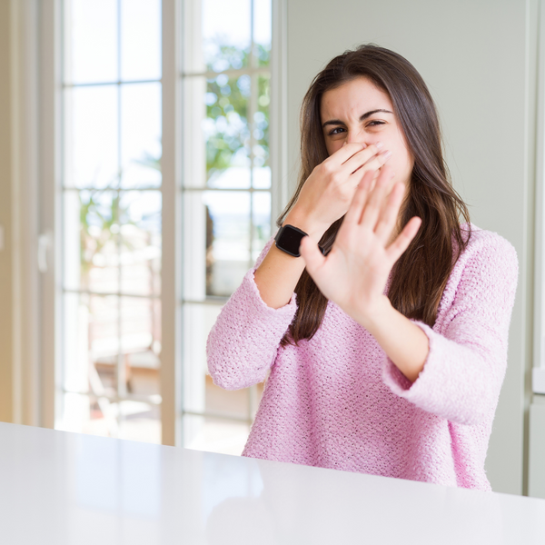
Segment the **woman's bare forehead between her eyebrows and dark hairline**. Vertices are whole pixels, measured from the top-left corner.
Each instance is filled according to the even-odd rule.
[[[393,112],[389,94],[379,89],[371,80],[358,77],[322,95],[320,116],[323,123],[328,119],[337,119],[351,114],[359,117],[366,112],[378,109]]]

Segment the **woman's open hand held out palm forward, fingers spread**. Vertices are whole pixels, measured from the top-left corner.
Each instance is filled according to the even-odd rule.
[[[380,312],[388,275],[418,232],[421,219],[413,217],[388,244],[398,220],[404,186],[394,183],[388,166],[372,187],[374,172],[366,173],[344,216],[332,250],[323,256],[306,236],[301,254],[320,291],[364,327]]]

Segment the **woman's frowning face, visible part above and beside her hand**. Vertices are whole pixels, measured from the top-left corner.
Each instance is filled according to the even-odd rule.
[[[390,150],[388,163],[395,176],[394,182],[409,183],[412,158],[390,96],[375,84],[358,77],[340,87],[326,91],[320,105],[323,138],[328,154],[334,154],[342,144],[384,144]]]

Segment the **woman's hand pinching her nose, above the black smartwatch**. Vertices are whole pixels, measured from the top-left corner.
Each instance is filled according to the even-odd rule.
[[[378,175],[390,156],[380,142],[368,146],[344,144],[314,168],[284,224],[299,227],[319,240],[332,223],[347,213],[365,173],[376,171]]]

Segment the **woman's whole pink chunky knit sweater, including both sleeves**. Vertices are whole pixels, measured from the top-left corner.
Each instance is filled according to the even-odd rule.
[[[274,310],[260,297],[255,268],[249,271],[207,342],[210,373],[224,389],[246,388],[270,372],[243,456],[490,490],[484,460],[518,262],[500,235],[471,228],[433,328],[414,321],[430,352],[412,384],[333,302],[310,341],[281,347],[295,294]]]

